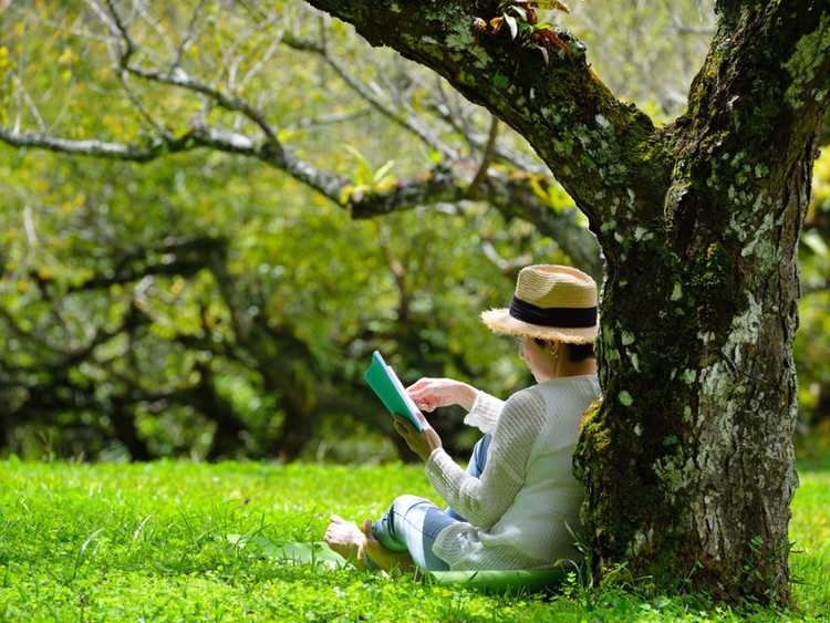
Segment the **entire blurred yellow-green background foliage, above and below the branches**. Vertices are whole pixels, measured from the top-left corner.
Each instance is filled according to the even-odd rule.
[[[479,167],[486,111],[301,2],[116,4],[138,44],[132,62],[256,103],[297,157],[351,180],[350,195],[445,156],[283,38],[322,41],[370,93],[426,120],[457,168]],[[561,21],[609,85],[658,122],[679,114],[713,3],[573,4]],[[136,145],[194,123],[259,132],[191,91],[124,76],[115,30],[98,2],[0,12],[0,125]],[[509,128],[499,145],[539,175]],[[491,172],[517,173],[501,162]],[[827,153],[816,172],[797,344],[805,425],[830,419]],[[554,183],[537,195],[575,209]],[[371,352],[404,383],[452,376],[506,397],[531,377],[478,314],[509,301],[511,259],[571,262],[556,236],[484,201],[355,220],[267,163],[209,149],[138,165],[0,146],[0,453],[28,457],[407,456],[362,382]],[[476,433],[447,412],[434,423],[461,451]]]

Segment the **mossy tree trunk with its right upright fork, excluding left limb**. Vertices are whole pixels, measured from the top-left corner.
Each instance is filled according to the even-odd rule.
[[[788,102],[782,60],[802,43],[787,24],[759,10],[722,27],[664,133],[677,159],[654,226],[637,215],[606,241],[606,399],[575,457],[600,574],[625,562],[658,584],[789,599],[797,246],[821,107]],[[776,32],[781,55],[755,45]]]

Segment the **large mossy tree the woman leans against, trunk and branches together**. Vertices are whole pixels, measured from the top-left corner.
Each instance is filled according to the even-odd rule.
[[[587,215],[605,257],[604,399],[577,457],[595,571],[624,562],[661,585],[787,601],[796,250],[828,102],[830,6],[716,2],[717,27],[688,108],[656,127],[601,82],[570,32],[537,22],[527,2],[310,3],[491,111]],[[248,154],[353,215],[466,196],[467,186],[459,194],[456,176],[440,168],[426,180],[360,188],[298,159],[245,101],[175,66],[131,64],[135,44],[110,8],[123,75],[196,91],[239,112],[261,139],[205,125],[179,135],[157,127],[160,139],[143,145],[9,131],[0,137],[136,160],[195,146]]]

